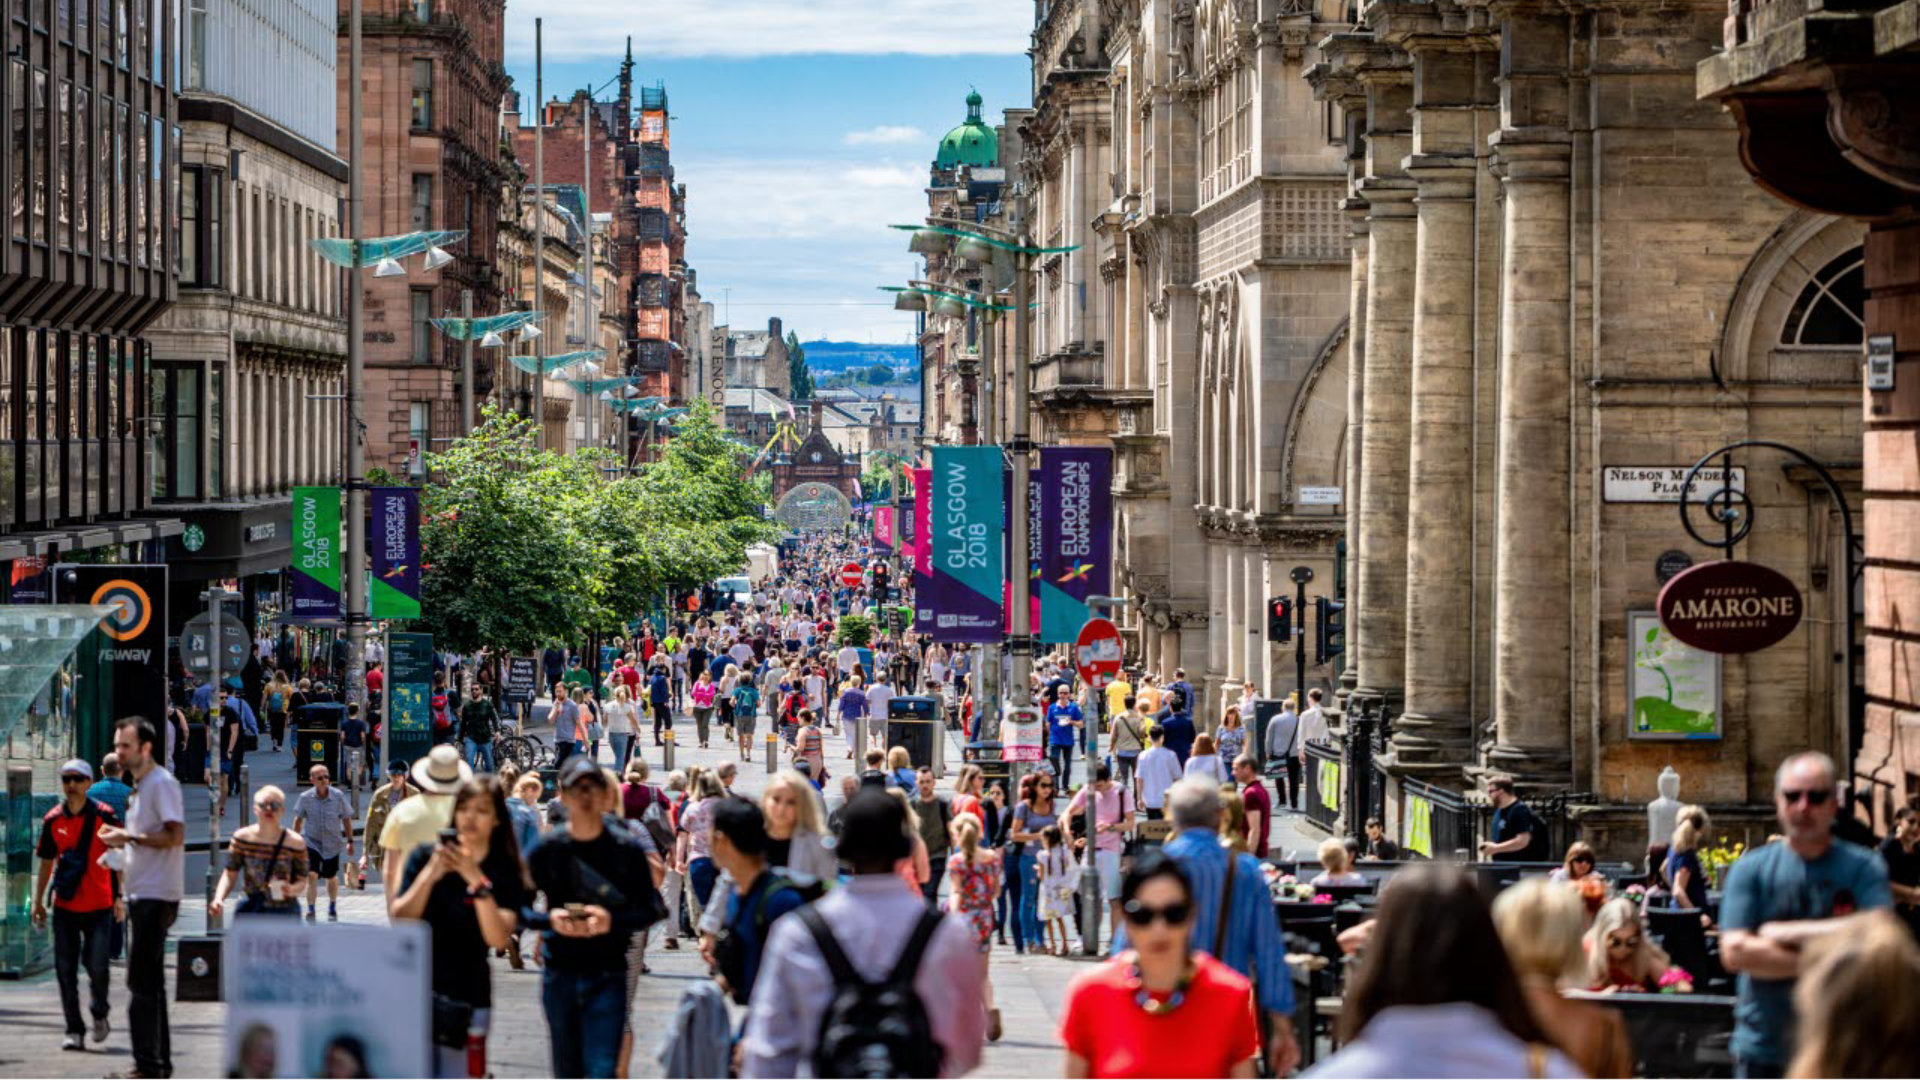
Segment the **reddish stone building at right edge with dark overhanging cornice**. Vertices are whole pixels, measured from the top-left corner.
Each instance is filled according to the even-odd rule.
[[[1920,4],[1736,0],[1720,33],[1724,52],[1701,60],[1697,90],[1740,125],[1740,160],[1759,186],[1801,211],[1866,223],[1857,258],[1841,263],[1870,342],[1866,678],[1834,749],[1851,763],[1857,807],[1885,830],[1920,798],[1920,638],[1908,617],[1920,609]]]

